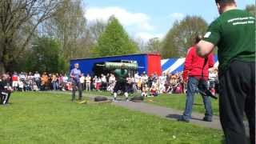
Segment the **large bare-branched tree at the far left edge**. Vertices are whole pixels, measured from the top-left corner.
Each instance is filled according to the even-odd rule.
[[[59,3],[60,0],[0,1],[0,73],[12,67],[38,25],[52,17]]]

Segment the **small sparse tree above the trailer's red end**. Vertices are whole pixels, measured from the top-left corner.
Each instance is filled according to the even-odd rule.
[[[151,38],[146,44],[146,50],[150,53],[159,53],[161,50],[161,42],[159,38]]]

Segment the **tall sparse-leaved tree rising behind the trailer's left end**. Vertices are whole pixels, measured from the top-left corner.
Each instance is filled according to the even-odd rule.
[[[67,61],[70,58],[90,56],[93,38],[86,30],[82,0],[63,0],[58,7],[50,26],[56,38],[61,42],[62,53]]]

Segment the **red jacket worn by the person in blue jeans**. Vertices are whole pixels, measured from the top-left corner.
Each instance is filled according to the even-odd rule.
[[[184,81],[187,81],[187,78],[190,76],[194,76],[200,78],[202,76],[202,67],[204,65],[205,58],[201,58],[196,53],[195,46],[190,47],[187,52],[186,60],[184,64],[184,70],[182,74],[182,78]],[[214,66],[214,54],[208,55],[208,61],[206,62],[206,66],[203,69],[203,77],[208,80],[208,70],[209,68]]]

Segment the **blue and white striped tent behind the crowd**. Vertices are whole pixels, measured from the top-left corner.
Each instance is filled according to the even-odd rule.
[[[184,68],[185,58],[169,58],[161,60],[162,73],[177,73]],[[218,56],[214,56],[214,67],[218,67]]]

